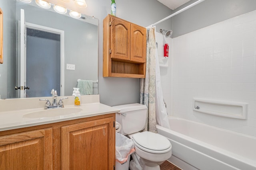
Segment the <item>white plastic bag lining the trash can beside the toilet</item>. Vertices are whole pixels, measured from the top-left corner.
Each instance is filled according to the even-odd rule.
[[[126,162],[128,156],[135,151],[132,139],[116,133],[116,161],[121,164]]]

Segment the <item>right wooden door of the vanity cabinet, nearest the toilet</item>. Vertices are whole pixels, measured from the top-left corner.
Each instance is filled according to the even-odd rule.
[[[62,170],[113,170],[114,118],[61,128]]]

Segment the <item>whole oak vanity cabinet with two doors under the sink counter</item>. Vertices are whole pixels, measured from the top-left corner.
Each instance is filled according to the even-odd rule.
[[[113,170],[115,113],[0,132],[0,170]]]

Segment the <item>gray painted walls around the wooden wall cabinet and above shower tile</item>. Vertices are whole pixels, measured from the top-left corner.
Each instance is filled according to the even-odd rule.
[[[102,77],[102,20],[110,12],[110,2],[105,0],[86,1],[92,8],[89,15],[99,18],[99,94],[100,102],[110,106],[139,102],[140,80],[135,78],[103,78]],[[196,2],[196,0],[192,0]],[[192,3],[190,2],[190,4]],[[92,3],[92,4],[91,4]],[[136,4],[136,5],[134,5]],[[189,3],[188,3],[189,4]],[[116,0],[117,16],[144,27],[169,16],[173,12],[156,0]],[[214,23],[254,10],[255,0],[206,0],[189,10],[172,18],[173,36],[212,25]],[[96,10],[97,9],[97,10]],[[94,10],[94,11],[91,11]],[[166,22],[170,21],[165,21]],[[168,29],[167,25],[157,25],[158,29]]]

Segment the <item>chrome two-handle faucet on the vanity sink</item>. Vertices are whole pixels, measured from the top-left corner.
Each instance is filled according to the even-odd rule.
[[[66,98],[61,98],[60,101],[57,103],[57,90],[52,89],[52,104],[50,103],[50,101],[48,99],[39,99],[39,101],[46,101],[44,109],[55,109],[55,108],[62,108],[64,107],[63,105],[63,100],[64,99],[68,99],[68,97]]]

